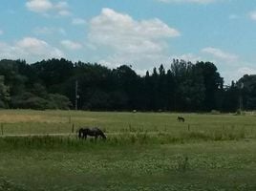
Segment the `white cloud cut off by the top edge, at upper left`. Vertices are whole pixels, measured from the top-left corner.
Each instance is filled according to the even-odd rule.
[[[56,13],[60,16],[70,15],[69,5],[65,1],[53,3],[51,0],[28,0],[26,7],[30,11],[42,13],[48,15],[50,13]]]

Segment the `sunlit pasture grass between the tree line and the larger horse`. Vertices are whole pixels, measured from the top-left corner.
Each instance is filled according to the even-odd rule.
[[[246,138],[256,138],[256,116],[182,114],[185,122],[178,122],[170,113],[108,113],[75,111],[0,111],[4,135],[59,134],[72,132],[81,126],[98,126],[107,133],[167,132],[180,136],[181,132],[217,134],[244,132]],[[1,134],[1,132],[0,132]]]

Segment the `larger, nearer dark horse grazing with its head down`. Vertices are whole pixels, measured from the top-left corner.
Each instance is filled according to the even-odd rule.
[[[104,140],[106,139],[106,136],[104,135],[104,133],[96,127],[93,127],[93,128],[86,127],[86,128],[80,128],[78,130],[78,138],[86,139],[87,136],[95,137],[95,138],[101,137]]]

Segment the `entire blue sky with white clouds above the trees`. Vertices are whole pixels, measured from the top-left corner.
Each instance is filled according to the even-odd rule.
[[[139,74],[212,61],[225,84],[256,74],[253,0],[1,0],[0,59],[65,57]]]

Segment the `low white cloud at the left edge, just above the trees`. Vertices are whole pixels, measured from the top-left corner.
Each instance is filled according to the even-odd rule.
[[[26,59],[29,62],[34,62],[39,59],[48,59],[52,57],[60,58],[63,56],[64,53],[57,48],[34,37],[24,37],[13,44],[0,42],[0,57],[2,58],[21,58]]]

